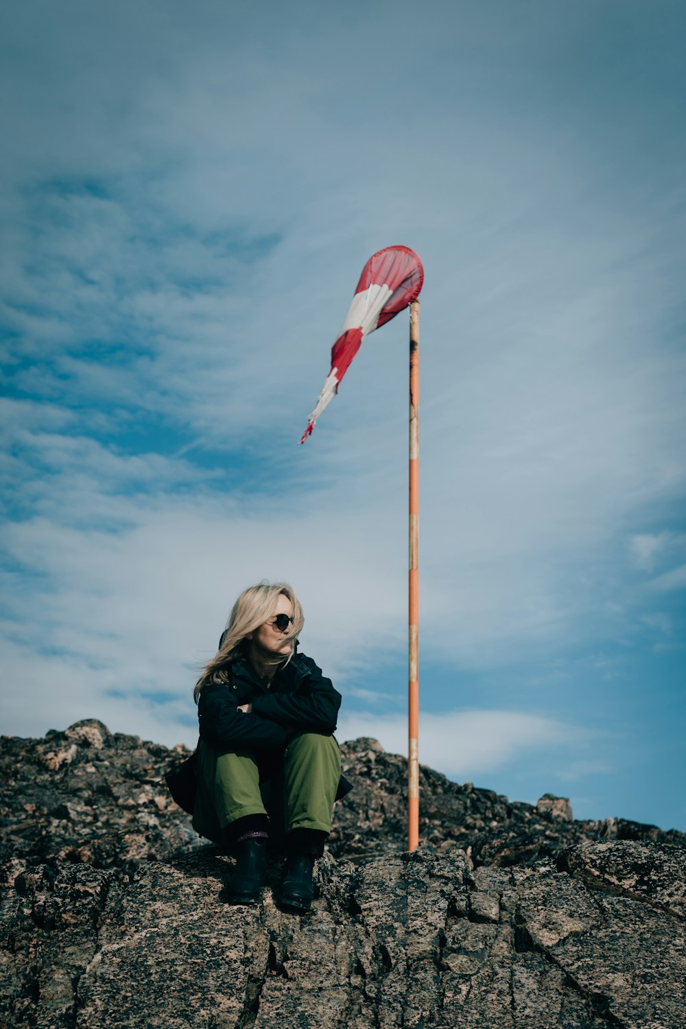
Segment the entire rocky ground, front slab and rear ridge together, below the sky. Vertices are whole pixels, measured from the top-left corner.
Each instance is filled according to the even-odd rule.
[[[312,914],[275,904],[278,857],[232,908],[158,788],[177,753],[94,721],[2,740],[0,1029],[683,1026],[683,835],[423,769],[402,853],[404,761],[358,740]]]

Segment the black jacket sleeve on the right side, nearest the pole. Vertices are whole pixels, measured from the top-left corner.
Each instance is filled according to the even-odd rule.
[[[333,688],[331,680],[322,675],[321,668],[312,658],[300,654],[300,660],[310,672],[301,691],[254,697],[253,714],[283,725],[291,733],[295,730],[329,736],[335,732],[340,694]]]

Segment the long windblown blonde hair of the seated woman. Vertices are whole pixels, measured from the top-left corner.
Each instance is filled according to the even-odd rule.
[[[205,665],[200,679],[193,689],[193,700],[197,703],[201,689],[208,682],[229,682],[228,666],[236,659],[245,653],[247,648],[247,636],[255,632],[260,626],[268,622],[275,613],[277,600],[280,596],[287,597],[293,605],[293,623],[284,633],[284,640],[295,641],[298,633],[302,631],[304,615],[300,602],[293,592],[293,588],[288,582],[267,582],[265,579],[257,586],[248,587],[244,590],[231,608],[226,628],[219,640],[219,649],[214,658]],[[287,665],[293,655],[294,646],[291,653],[285,660]]]

